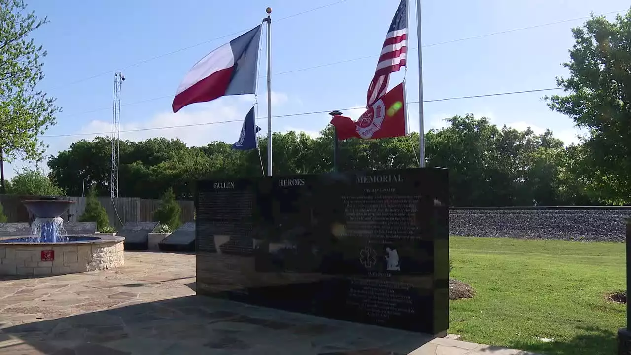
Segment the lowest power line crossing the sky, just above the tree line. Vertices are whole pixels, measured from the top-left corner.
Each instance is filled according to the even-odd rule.
[[[564,88],[545,88],[545,89],[534,89],[534,90],[521,90],[521,91],[512,91],[512,92],[499,92],[499,93],[486,93],[483,95],[471,95],[471,96],[457,96],[457,97],[446,97],[444,99],[434,99],[434,100],[425,100],[423,102],[440,102],[440,101],[449,101],[449,100],[463,100],[463,99],[475,99],[478,97],[492,97],[492,96],[502,96],[502,95],[514,95],[517,93],[532,93],[532,92],[544,92],[551,90],[562,90]],[[409,101],[408,104],[418,104],[418,101]],[[353,111],[358,109],[365,109],[365,107],[349,107],[346,109],[340,110],[324,110],[324,111],[310,111],[310,112],[300,112],[295,114],[283,114],[272,116],[273,118],[283,118],[283,117],[295,117],[295,116],[306,116],[310,114],[324,114],[329,113],[331,111]],[[256,119],[267,119],[267,117],[257,117]],[[222,123],[233,123],[233,122],[243,122],[243,119],[230,119],[227,121],[214,121],[214,122],[206,122],[206,123],[192,123],[192,124],[178,124],[175,126],[163,126],[163,127],[150,127],[150,128],[136,128],[136,129],[125,129],[121,132],[139,132],[139,131],[155,131],[157,129],[171,129],[171,128],[187,128],[187,127],[197,127],[197,126],[208,126],[211,124],[222,124]],[[69,137],[69,136],[98,136],[105,135],[111,132],[93,132],[93,133],[70,133],[66,135],[43,135],[44,137]]]

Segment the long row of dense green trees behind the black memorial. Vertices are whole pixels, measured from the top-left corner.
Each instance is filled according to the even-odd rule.
[[[449,169],[451,204],[456,206],[601,205],[628,202],[611,198],[593,183],[582,156],[586,146],[564,147],[551,131],[536,134],[490,124],[471,114],[446,119],[445,128],[425,136],[427,165]],[[333,129],[312,138],[290,131],[273,133],[274,174],[316,174],[333,170]],[[191,199],[198,179],[261,176],[266,166],[266,138],[256,150],[242,152],[213,141],[187,147],[180,140],[151,138],[121,141],[121,196],[159,198],[172,188],[179,199]],[[68,195],[84,186],[109,193],[111,141],[80,140],[50,157],[50,179]],[[418,167],[418,134],[381,140],[341,141],[341,171]]]

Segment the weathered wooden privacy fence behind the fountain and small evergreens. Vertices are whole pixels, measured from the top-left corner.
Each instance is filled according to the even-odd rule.
[[[21,201],[37,200],[40,196],[0,195],[0,203],[3,205],[4,215],[8,222],[28,222],[27,208]],[[62,196],[63,200],[75,201],[64,220],[78,222],[85,210],[86,197]],[[110,224],[122,227],[126,222],[153,222],[153,212],[160,206],[160,200],[149,200],[138,197],[98,197],[98,202],[105,207]],[[182,223],[191,222],[195,214],[195,206],[192,201],[177,201],[182,208],[180,220]]]

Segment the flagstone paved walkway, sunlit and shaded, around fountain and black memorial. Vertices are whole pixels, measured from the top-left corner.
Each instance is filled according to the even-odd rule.
[[[196,296],[195,256],[0,279],[0,354],[533,355]]]

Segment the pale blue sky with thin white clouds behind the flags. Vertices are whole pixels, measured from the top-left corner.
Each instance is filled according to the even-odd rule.
[[[93,138],[91,133],[111,131],[115,70],[126,76],[122,131],[242,119],[254,102],[252,95],[191,105],[178,114],[170,111],[172,95],[192,64],[236,36],[226,35],[255,27],[264,18],[266,6],[273,9],[273,116],[362,106],[399,0],[27,2],[30,9],[50,20],[34,37],[48,51],[46,78],[40,88],[57,97],[63,108],[57,125],[43,137],[50,146],[47,153],[56,154],[73,141]],[[411,0],[410,48],[417,46],[415,3]],[[553,88],[555,76],[566,74],[560,63],[567,61],[573,44],[570,28],[584,22],[565,20],[627,8],[628,1],[623,0],[425,0],[425,100]],[[565,22],[556,23],[560,21]],[[546,23],[556,24],[459,40]],[[266,33],[263,35],[265,38]],[[440,44],[452,40],[459,41]],[[263,42],[261,75],[265,73],[265,48]],[[359,57],[365,58],[350,60]],[[324,65],[340,61],[345,63]],[[393,75],[391,83],[398,83],[403,75],[403,71]],[[408,100],[418,100],[415,49],[408,54],[406,84]],[[261,117],[266,113],[265,78],[259,81],[259,92]],[[498,125],[531,126],[535,131],[550,128],[559,138],[575,141],[572,121],[550,112],[542,99],[545,94],[429,102],[425,104],[425,129],[440,127],[445,117],[473,113]],[[345,111],[351,117],[361,113]],[[418,105],[408,105],[408,116],[411,129],[418,131]],[[273,119],[272,128],[315,135],[328,120],[326,114],[279,117]],[[121,132],[121,138],[167,136],[179,137],[189,145],[213,140],[233,143],[240,126],[237,122],[149,129]],[[266,131],[265,120],[259,126]],[[8,164],[8,178],[23,165]]]

